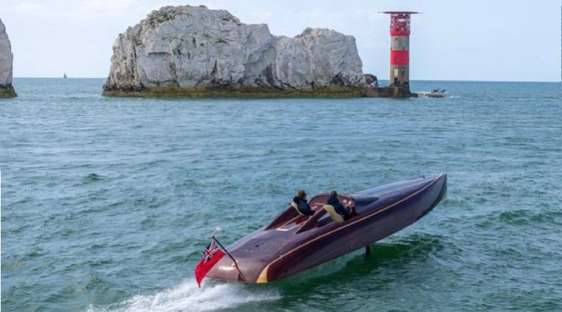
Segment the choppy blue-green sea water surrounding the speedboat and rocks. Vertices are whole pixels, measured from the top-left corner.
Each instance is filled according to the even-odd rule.
[[[447,98],[103,98],[15,79],[0,100],[5,311],[562,310],[559,84],[413,82]],[[192,271],[299,188],[448,174],[405,230],[287,280]]]

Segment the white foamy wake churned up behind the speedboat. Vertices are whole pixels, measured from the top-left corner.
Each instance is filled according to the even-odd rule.
[[[136,312],[136,311],[213,311],[219,308],[233,308],[256,301],[280,299],[272,290],[253,289],[234,283],[204,282],[197,287],[195,280],[186,280],[181,285],[157,292],[138,295],[120,304],[107,307],[89,306],[87,312]]]

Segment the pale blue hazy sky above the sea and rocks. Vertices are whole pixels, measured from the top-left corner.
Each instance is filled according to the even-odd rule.
[[[561,81],[562,0],[0,0],[14,77],[100,77],[117,35],[162,6],[203,4],[276,36],[306,27],[355,37],[363,72],[388,79],[389,17],[412,16],[410,79]]]

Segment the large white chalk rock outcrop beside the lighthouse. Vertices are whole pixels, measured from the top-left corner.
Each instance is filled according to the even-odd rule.
[[[104,95],[360,96],[355,39],[308,28],[294,38],[223,10],[166,6],[119,34]]]

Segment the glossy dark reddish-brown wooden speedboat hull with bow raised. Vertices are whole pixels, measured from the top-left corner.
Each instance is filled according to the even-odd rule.
[[[239,282],[287,278],[396,233],[430,212],[446,193],[447,176],[439,174],[341,196],[358,213],[341,223],[322,209],[327,194],[315,196],[313,216],[299,216],[289,207],[268,226],[227,247],[242,274],[224,256],[207,277]]]

